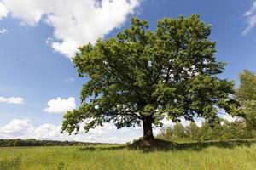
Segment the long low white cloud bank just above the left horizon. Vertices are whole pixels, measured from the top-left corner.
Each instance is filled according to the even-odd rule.
[[[102,143],[125,143],[142,136],[142,128],[117,129],[111,123],[104,123],[104,127],[91,129],[84,133],[82,128],[77,135],[61,133],[61,126],[53,124],[42,124],[34,127],[28,119],[15,119],[7,125],[0,127],[0,138],[2,139],[50,139],[69,140],[81,142],[102,142]],[[124,135],[125,134],[125,135]]]

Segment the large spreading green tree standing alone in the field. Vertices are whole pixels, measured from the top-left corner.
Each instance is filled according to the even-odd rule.
[[[154,139],[152,126],[165,117],[179,122],[204,117],[218,122],[218,109],[232,113],[233,82],[217,77],[224,69],[215,60],[211,26],[198,14],[159,20],[156,30],[133,18],[131,28],[106,41],[79,48],[73,58],[79,77],[90,77],[79,109],[68,111],[62,130],[86,132],[113,122],[118,128],[143,124],[143,139]]]

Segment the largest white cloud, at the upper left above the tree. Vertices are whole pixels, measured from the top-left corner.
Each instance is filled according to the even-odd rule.
[[[133,14],[141,0],[2,0],[9,13],[28,26],[52,26],[56,52],[72,57],[80,45],[94,43]]]

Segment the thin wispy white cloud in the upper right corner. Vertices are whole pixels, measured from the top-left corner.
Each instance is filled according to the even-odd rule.
[[[247,35],[256,26],[256,1],[253,2],[253,6],[248,10],[244,16],[246,17],[247,28],[242,31],[242,35]]]

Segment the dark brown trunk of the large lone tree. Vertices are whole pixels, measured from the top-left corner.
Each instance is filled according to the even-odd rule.
[[[152,129],[152,116],[143,117],[143,139],[144,140],[153,140],[153,129]]]

